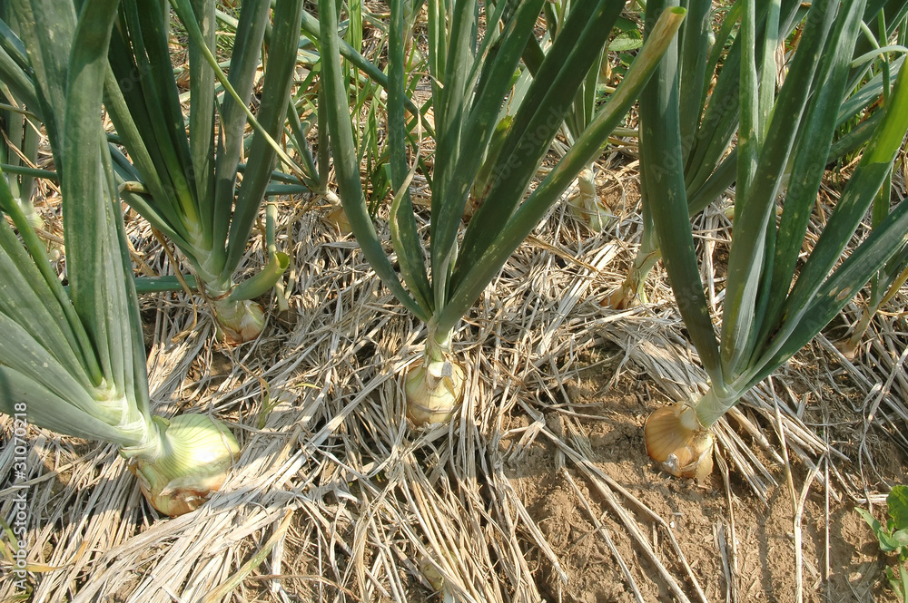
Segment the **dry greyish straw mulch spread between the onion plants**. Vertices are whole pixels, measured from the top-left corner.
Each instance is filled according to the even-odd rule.
[[[593,389],[640,408],[706,386],[658,269],[650,304],[622,312],[599,305],[623,279],[639,234],[634,174],[622,174],[603,183],[616,212],[609,232],[591,236],[554,209],[463,321],[455,347],[469,394],[449,426],[408,426],[402,375],[424,327],[381,287],[355,243],[307,210],[311,199],[281,202],[290,309],[271,304],[259,341],[225,348],[205,306],[183,294],[143,297],[156,411],[218,416],[232,425],[242,456],[202,509],[163,519],[114,447],[32,430],[33,600],[744,601],[795,600],[798,592],[822,600],[830,545],[804,549],[804,503],[826,501],[829,520],[830,505],[879,504],[892,485],[880,451],[898,467],[908,450],[904,320],[877,320],[854,362],[820,336],[749,394],[720,423],[718,469],[706,490],[646,462],[611,472],[619,464],[599,462],[605,449],[594,436],[627,419],[628,447],[605,452],[640,455],[645,414],[577,403],[572,388],[589,382],[590,357],[608,358]],[[724,214],[710,209],[699,220],[702,250],[720,258]],[[131,220],[130,233],[149,269],[172,271],[141,222]],[[261,248],[247,259],[250,270],[261,265]],[[705,266],[718,309],[721,266]],[[11,422],[0,424],[11,433]],[[11,459],[4,446],[0,484],[13,481]],[[533,459],[548,463],[545,472],[523,479]],[[553,480],[570,508],[553,509],[549,497],[540,511],[540,492]],[[719,509],[705,528],[715,542],[691,540],[677,513],[647,502],[658,488],[679,492],[679,501],[684,491],[711,491],[697,495]],[[779,492],[792,505],[778,550],[796,563],[767,595],[748,578],[744,543],[754,534],[742,505],[768,508]],[[0,491],[4,517],[12,493]],[[556,517],[573,522],[573,535],[559,536]],[[599,550],[586,567],[575,559],[581,543]],[[599,590],[581,583],[598,576],[595,564],[611,571],[597,578]],[[853,591],[880,595],[880,567],[863,567]],[[607,579],[614,583],[604,590]],[[11,577],[0,579],[0,597],[14,596]]]

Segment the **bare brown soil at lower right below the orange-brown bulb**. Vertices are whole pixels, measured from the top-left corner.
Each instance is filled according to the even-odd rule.
[[[727,485],[718,470],[700,483],[668,475],[646,455],[643,425],[648,413],[660,404],[650,396],[646,375],[639,380],[623,377],[609,389],[612,374],[611,367],[598,365],[585,373],[581,383],[568,384],[572,402],[582,405],[582,413],[587,415],[577,419],[577,424],[592,452],[589,461],[668,522],[708,600],[795,601],[795,505],[784,472],[779,469],[775,474],[780,485],[770,491],[768,505],[756,498],[734,468],[726,473]],[[506,427],[527,425],[526,415],[516,415]],[[889,465],[890,477],[898,481],[904,475],[903,455],[894,446],[887,452],[881,457]],[[546,600],[635,600],[617,556],[601,537],[602,530],[627,562],[644,600],[676,600],[652,570],[653,564],[627,537],[601,494],[560,464],[557,446],[542,439],[508,458],[506,464],[508,477],[567,575],[565,582],[546,556],[530,553]],[[807,471],[800,463],[792,464],[800,494]],[[578,493],[587,504],[592,503],[592,514]],[[873,533],[854,512],[854,501],[838,491],[834,496],[841,500],[828,497],[822,486],[814,486],[801,511],[804,600],[896,600],[881,580],[883,567],[891,559],[880,553]],[[878,514],[882,512],[877,509]],[[675,553],[665,530],[648,520],[646,513],[637,511],[635,515],[652,527],[646,536],[668,569],[684,576],[682,564],[672,560]],[[698,598],[689,583],[684,588],[688,598]]]

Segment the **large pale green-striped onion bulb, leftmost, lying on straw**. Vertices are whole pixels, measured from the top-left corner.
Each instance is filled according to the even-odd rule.
[[[195,511],[221,488],[240,444],[224,423],[204,414],[155,416],[153,424],[157,442],[123,449],[129,469],[158,511],[171,517]]]

